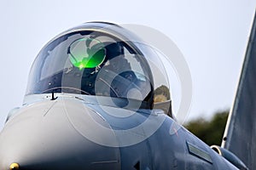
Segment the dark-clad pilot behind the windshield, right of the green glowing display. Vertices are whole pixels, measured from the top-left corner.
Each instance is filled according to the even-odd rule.
[[[129,87],[137,81],[136,74],[131,71],[131,64],[125,59],[122,44],[120,42],[106,43],[106,60],[102,64],[101,72],[107,72],[107,75],[98,77],[105,82],[100,90],[103,90],[103,95],[126,98]],[[99,92],[99,89],[97,91]]]

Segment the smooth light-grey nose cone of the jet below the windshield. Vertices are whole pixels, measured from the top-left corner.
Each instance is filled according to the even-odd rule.
[[[0,133],[0,169],[119,169],[117,147],[96,144],[81,133],[79,128],[85,129],[88,122],[84,121],[91,117],[108,127],[95,111],[77,101],[57,99],[20,109]],[[86,129],[84,133],[97,131]],[[95,134],[114,140],[111,135]]]

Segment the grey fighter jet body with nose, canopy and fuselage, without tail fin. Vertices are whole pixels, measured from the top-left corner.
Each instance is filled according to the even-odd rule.
[[[0,169],[247,169],[229,147],[211,148],[177,123],[162,66],[121,26],[64,31],[39,52],[24,103],[9,112]]]

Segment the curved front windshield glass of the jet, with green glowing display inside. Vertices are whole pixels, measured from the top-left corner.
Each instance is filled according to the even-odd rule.
[[[107,33],[77,31],[56,38],[32,65],[26,95],[70,93],[152,99],[146,59]]]

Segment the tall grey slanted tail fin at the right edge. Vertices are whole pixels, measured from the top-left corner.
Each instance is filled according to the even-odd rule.
[[[223,147],[232,151],[249,169],[256,169],[256,18],[242,66],[236,99],[230,111]]]

